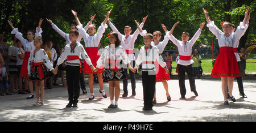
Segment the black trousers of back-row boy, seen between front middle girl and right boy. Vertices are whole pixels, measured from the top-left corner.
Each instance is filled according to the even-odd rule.
[[[131,66],[134,67],[135,61],[132,61],[131,63],[132,63]],[[123,71],[125,71],[125,74],[128,75],[127,68],[124,68]],[[135,74],[131,70],[129,70],[129,75],[131,78],[131,89],[133,89],[135,91],[135,88],[136,88]],[[123,80],[123,92],[125,92],[125,93],[128,92],[127,86],[128,86],[128,79]]]

